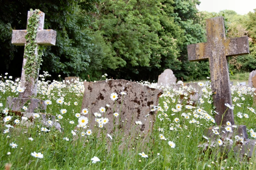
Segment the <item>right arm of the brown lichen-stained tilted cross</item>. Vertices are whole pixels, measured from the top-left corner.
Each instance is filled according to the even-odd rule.
[[[226,56],[249,54],[248,36],[225,39],[224,47]]]

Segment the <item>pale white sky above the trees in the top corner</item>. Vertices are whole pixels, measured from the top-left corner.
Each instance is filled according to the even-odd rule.
[[[200,0],[200,11],[219,12],[220,10],[234,10],[244,15],[256,8],[256,0]]]

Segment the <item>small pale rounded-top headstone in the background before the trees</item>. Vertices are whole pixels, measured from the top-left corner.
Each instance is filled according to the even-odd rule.
[[[158,76],[157,85],[170,86],[176,83],[177,78],[173,74],[172,70],[166,69],[162,74]]]

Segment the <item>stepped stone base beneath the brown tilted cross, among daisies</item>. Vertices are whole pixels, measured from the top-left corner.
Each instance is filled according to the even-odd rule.
[[[256,140],[248,139],[246,126],[245,125],[239,125],[237,128],[232,127],[232,132],[227,132],[225,130],[227,126],[221,126],[220,129],[217,131],[219,132],[218,135],[213,133],[213,129],[216,127],[211,127],[205,131],[206,137],[209,138],[207,143],[203,143],[199,145],[199,147],[203,147],[204,150],[207,150],[209,147],[218,147],[218,139],[224,139],[223,145],[219,146],[222,151],[226,152],[227,154],[231,151],[234,153],[239,154],[240,158],[243,158],[244,156],[252,157],[256,153],[255,146],[256,146]],[[229,126],[231,127],[231,126]],[[222,131],[225,131],[222,132]],[[244,143],[235,141],[235,136],[238,135],[239,137],[244,138]],[[227,141],[226,138],[232,139],[233,142]]]

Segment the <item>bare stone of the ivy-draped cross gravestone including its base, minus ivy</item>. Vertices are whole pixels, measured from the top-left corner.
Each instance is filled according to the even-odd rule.
[[[28,11],[27,16],[27,25],[29,18],[33,15],[35,11]],[[36,35],[36,49],[34,54],[36,54],[36,58],[38,57],[38,45],[55,45],[56,42],[56,31],[54,30],[44,30],[44,13],[39,11],[39,27],[37,30]],[[26,30],[13,30],[12,31],[12,40],[11,43],[14,45],[24,45],[26,46],[26,39],[25,36],[27,34]],[[7,107],[10,108],[12,111],[21,111],[22,107],[25,104],[28,104],[28,113],[33,113],[39,108],[41,110],[46,110],[46,104],[43,100],[36,99],[33,97],[37,96],[37,83],[38,83],[38,76],[39,76],[39,68],[38,70],[34,70],[37,78],[33,78],[31,75],[26,75],[25,73],[25,64],[27,62],[27,58],[23,58],[23,67],[22,67],[22,76],[21,76],[21,87],[24,89],[24,92],[19,93],[18,98],[7,98]],[[33,62],[32,65],[38,65],[37,62]],[[29,81],[26,81],[25,76],[29,76]]]

